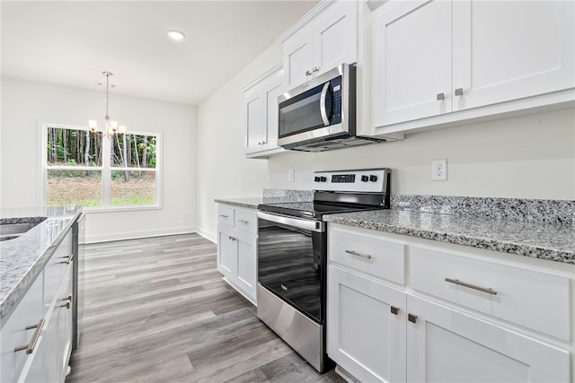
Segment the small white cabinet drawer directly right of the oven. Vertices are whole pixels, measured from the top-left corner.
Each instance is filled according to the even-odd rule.
[[[405,283],[405,248],[401,242],[339,229],[328,233],[330,262],[346,265],[394,283]]]

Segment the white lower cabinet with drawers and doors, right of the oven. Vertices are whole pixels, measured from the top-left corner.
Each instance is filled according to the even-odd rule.
[[[362,382],[574,381],[572,265],[461,248],[330,223],[332,360]]]

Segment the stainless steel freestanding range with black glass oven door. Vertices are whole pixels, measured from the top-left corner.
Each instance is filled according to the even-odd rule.
[[[318,171],[314,200],[264,204],[258,211],[258,318],[316,370],[325,353],[324,214],[389,208],[389,169]]]

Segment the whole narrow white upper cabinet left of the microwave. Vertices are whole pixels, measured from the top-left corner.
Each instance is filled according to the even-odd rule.
[[[281,64],[243,89],[245,100],[245,152],[248,157],[267,157],[284,152],[278,146],[278,96],[283,91]]]

